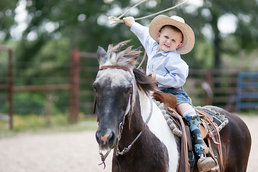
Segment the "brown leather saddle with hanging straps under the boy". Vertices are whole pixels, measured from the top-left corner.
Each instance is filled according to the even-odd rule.
[[[172,120],[172,123],[175,124],[174,126],[176,126],[182,132],[181,158],[180,158],[180,164],[179,164],[179,172],[188,172],[188,171],[192,172],[193,167],[195,165],[195,156],[193,155],[193,151],[192,151],[194,148],[192,145],[189,126],[186,125],[186,121],[184,117],[182,117],[175,109],[177,105],[176,96],[170,93],[155,92],[153,94],[153,97],[155,100],[159,101],[161,105],[163,105],[163,109],[167,111],[167,114]],[[197,109],[195,109],[195,111],[196,111],[196,114],[198,113],[200,117],[200,120],[199,120],[200,130],[201,130],[203,143],[205,145],[205,156],[212,157],[216,163],[215,167],[210,169],[210,171],[220,172],[217,157],[214,155],[212,145],[211,145],[211,142],[213,142],[215,145],[218,146],[220,165],[222,169],[223,168],[222,149],[220,144],[221,141],[220,141],[219,130],[217,128],[219,123],[217,121],[217,117],[215,116],[213,117],[211,113],[209,113],[208,111],[197,110]],[[204,138],[207,139],[208,146],[205,143]]]

